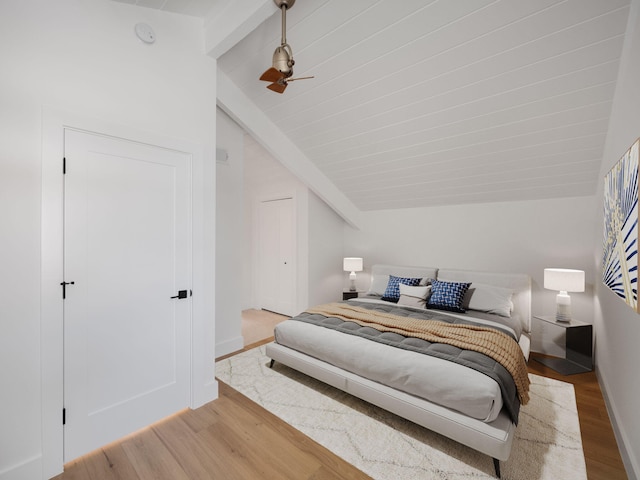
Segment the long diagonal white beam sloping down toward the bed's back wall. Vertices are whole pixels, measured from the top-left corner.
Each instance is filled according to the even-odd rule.
[[[358,228],[360,210],[220,69],[217,87],[218,106],[349,225]]]

